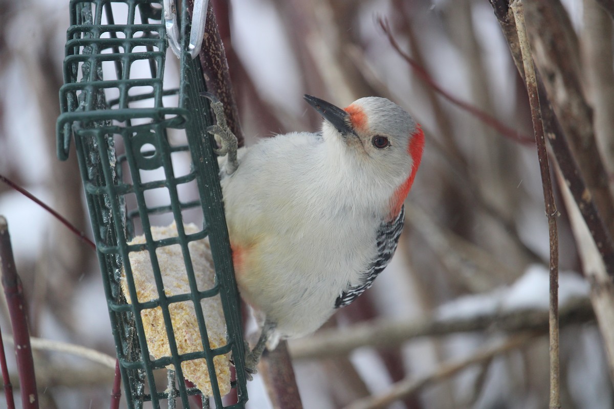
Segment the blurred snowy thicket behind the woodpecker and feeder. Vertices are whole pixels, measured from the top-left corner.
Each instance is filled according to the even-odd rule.
[[[612,20],[595,0],[565,0],[563,6],[581,90],[595,121],[602,121],[596,134],[610,167],[614,137],[600,129],[614,129],[614,116],[608,115],[614,106]],[[349,328],[373,319],[411,324],[486,317],[495,323],[497,314],[517,311],[518,327],[528,328],[524,318],[547,311],[548,226],[526,88],[487,0],[217,0],[214,7],[247,145],[276,133],[317,131],[321,119],[303,101],[305,93],[342,107],[362,96],[388,97],[426,134],[394,260],[324,331],[352,337]],[[395,50],[381,21],[430,80]],[[68,1],[0,0],[0,174],[88,232],[76,155],[60,162],[55,154],[68,25]],[[178,63],[171,53],[166,70],[173,88]],[[449,96],[497,118],[513,135],[504,136]],[[518,142],[524,136],[529,143]],[[565,302],[588,299],[589,285],[556,178],[554,185],[563,308]],[[3,183],[0,214],[9,222],[31,333],[114,355],[93,251]],[[0,315],[7,334],[6,308]],[[590,317],[570,321],[561,329],[563,407],[611,408],[599,328]],[[304,406],[346,407],[415,379],[426,381],[391,408],[547,407],[547,335],[433,377],[450,362],[508,339],[496,324],[485,331],[448,332],[336,356],[317,348],[309,352],[309,345],[316,345],[309,338],[291,342]],[[373,338],[378,337],[389,334]],[[12,345],[6,345],[10,351]],[[108,406],[111,368],[49,351],[36,351],[35,359],[42,407]],[[259,377],[249,388],[248,408],[269,407]]]

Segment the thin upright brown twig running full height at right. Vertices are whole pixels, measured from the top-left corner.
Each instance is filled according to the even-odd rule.
[[[520,0],[510,4],[516,21],[518,41],[523,56],[524,77],[529,94],[531,119],[535,132],[535,145],[539,159],[540,174],[542,177],[543,199],[548,218],[548,234],[550,236],[550,302],[549,323],[550,328],[550,409],[561,408],[560,394],[560,368],[559,368],[559,237],[556,229],[558,210],[554,204],[552,193],[552,180],[550,178],[550,164],[548,164],[548,152],[546,151],[546,138],[543,131],[542,109],[540,107],[539,94],[537,91],[537,78],[533,67],[533,58],[529,46],[529,38],[524,26],[523,5]]]

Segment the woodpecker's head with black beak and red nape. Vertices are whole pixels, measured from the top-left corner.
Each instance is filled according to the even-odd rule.
[[[400,212],[422,159],[424,133],[409,113],[386,98],[364,97],[345,109],[305,95],[324,117],[325,140],[343,147],[374,182],[392,188],[391,218]]]

